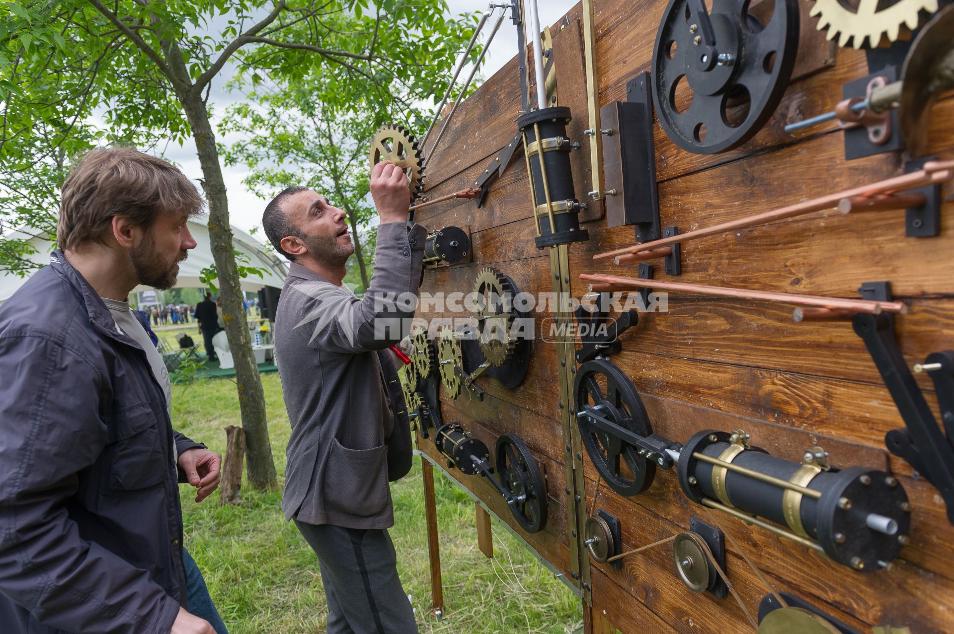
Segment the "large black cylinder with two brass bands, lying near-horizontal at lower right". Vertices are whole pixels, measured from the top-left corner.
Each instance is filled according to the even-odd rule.
[[[733,447],[730,438],[726,432],[706,430],[695,434],[683,447],[678,462],[679,484],[690,500],[728,501],[727,505],[775,522],[789,532],[796,532],[790,522],[800,522],[808,539],[819,542],[828,557],[856,570],[876,570],[879,562],[890,562],[898,556],[910,527],[910,507],[902,485],[890,474],[866,467],[820,471],[809,474],[810,480],[801,483],[819,491],[818,500],[796,492],[790,493],[786,502],[785,487],[694,457],[701,454],[720,459]],[[736,451],[729,460],[732,465],[782,481],[790,481],[803,466],[756,448]],[[716,481],[721,482],[718,487]],[[797,520],[794,515],[786,517],[796,509]],[[881,525],[882,529],[872,525]]]

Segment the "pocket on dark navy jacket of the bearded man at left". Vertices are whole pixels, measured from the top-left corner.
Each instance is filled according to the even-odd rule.
[[[104,493],[139,491],[167,477],[167,453],[162,450],[156,414],[149,403],[116,412],[104,455]]]

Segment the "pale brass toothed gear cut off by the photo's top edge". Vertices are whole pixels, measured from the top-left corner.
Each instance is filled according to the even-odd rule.
[[[839,46],[848,46],[850,41],[856,49],[865,46],[865,40],[872,49],[882,39],[897,42],[902,36],[902,27],[911,31],[918,28],[921,11],[935,13],[938,10],[938,0],[898,0],[887,7],[879,0],[861,0],[854,10],[840,0],[810,1],[814,4],[809,15],[819,17],[819,31],[827,29],[827,39],[838,36]]]

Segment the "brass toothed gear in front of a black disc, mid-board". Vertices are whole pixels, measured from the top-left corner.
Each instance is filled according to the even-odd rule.
[[[480,349],[490,365],[500,367],[517,347],[517,339],[510,333],[514,318],[513,285],[500,271],[487,267],[477,274],[474,293],[479,296],[474,318]]]

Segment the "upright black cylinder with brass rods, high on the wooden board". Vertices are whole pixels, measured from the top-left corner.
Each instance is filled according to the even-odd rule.
[[[546,212],[538,214],[540,235],[536,238],[536,245],[539,249],[590,239],[589,232],[580,229],[580,204],[573,192],[570,139],[567,137],[567,124],[571,118],[570,109],[560,106],[527,112],[517,119],[517,128],[524,134],[528,148],[537,141],[537,130],[543,139],[542,143],[537,144],[536,153],[531,152],[529,155],[529,177],[533,183],[536,207],[547,204],[549,193],[550,202],[565,210],[553,215],[553,227],[550,227],[550,216]],[[545,150],[543,145],[548,142],[558,147]],[[544,172],[547,175],[546,186]],[[536,208],[533,213],[537,214]]]

